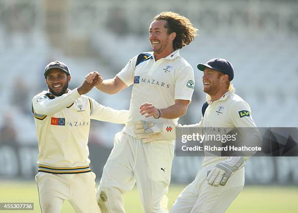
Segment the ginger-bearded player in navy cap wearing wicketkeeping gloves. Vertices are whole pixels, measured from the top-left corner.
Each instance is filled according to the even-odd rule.
[[[252,119],[251,109],[235,94],[230,83],[234,78],[231,63],[214,58],[197,67],[204,72],[202,81],[206,102],[202,107],[201,121],[183,127],[200,127],[198,131],[202,135],[213,134],[209,128],[219,130],[220,135],[225,135],[223,129],[237,129],[243,136],[243,144],[257,145],[261,135]],[[224,213],[242,191],[248,156],[216,156],[205,151],[202,169],[179,194],[169,213]]]

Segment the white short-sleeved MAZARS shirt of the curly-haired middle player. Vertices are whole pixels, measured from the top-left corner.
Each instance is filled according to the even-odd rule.
[[[133,137],[134,123],[140,120],[177,124],[179,119],[155,119],[153,116],[146,118],[140,114],[140,105],[147,102],[159,109],[167,108],[175,103],[175,99],[191,101],[194,90],[193,69],[179,56],[179,50],[157,61],[153,52],[135,56],[116,76],[127,86],[133,84],[129,121],[123,129]]]

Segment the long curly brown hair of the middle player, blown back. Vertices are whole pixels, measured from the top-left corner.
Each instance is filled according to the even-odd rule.
[[[197,36],[198,29],[195,28],[190,20],[178,13],[171,11],[162,12],[153,18],[154,20],[166,20],[165,28],[168,35],[175,32],[176,38],[173,40],[174,50],[181,49],[185,45],[190,44]]]

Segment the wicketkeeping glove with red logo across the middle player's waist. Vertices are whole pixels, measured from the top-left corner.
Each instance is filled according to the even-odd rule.
[[[142,120],[134,124],[134,134],[143,143],[155,140],[175,140],[175,124],[152,123]]]

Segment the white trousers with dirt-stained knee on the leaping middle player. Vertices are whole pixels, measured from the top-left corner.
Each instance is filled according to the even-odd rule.
[[[97,189],[102,213],[125,213],[122,194],[135,183],[145,213],[168,213],[166,194],[173,157],[174,145],[169,141],[142,143],[117,133]]]

